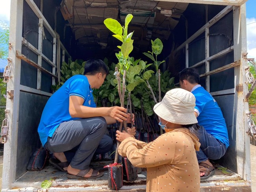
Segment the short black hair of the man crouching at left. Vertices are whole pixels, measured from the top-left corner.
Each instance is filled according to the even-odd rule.
[[[108,75],[108,66],[101,59],[89,59],[84,66],[84,75],[95,75],[102,73]]]

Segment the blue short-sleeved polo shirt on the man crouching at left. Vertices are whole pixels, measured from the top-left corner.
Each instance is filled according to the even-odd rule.
[[[69,96],[79,96],[84,99],[83,106],[96,107],[93,101],[93,90],[88,79],[83,75],[69,78],[47,101],[38,126],[38,133],[43,144],[47,137],[52,137],[59,124],[78,118],[69,114]]]

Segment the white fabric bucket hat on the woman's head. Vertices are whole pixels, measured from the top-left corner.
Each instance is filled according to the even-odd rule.
[[[194,114],[195,101],[195,96],[191,92],[180,88],[171,89],[163,100],[154,106],[154,112],[174,124],[195,124],[198,122]]]

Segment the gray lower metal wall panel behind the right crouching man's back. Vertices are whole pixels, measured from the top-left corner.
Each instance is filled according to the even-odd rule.
[[[222,166],[228,167],[230,170],[237,173],[236,156],[243,156],[243,154],[241,154],[241,152],[239,153],[239,151],[236,150],[236,110],[234,106],[234,96],[234,94],[215,96],[214,99],[221,107],[221,111],[226,121],[228,129],[228,139],[230,143],[226,154],[217,162],[219,162],[219,164],[221,164]]]

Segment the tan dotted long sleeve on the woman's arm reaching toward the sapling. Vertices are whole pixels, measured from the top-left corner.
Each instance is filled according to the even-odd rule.
[[[126,138],[119,145],[120,155],[127,157],[137,167],[154,167],[173,161],[175,145],[170,135],[163,134],[156,140],[142,145],[132,137]],[[142,148],[139,148],[141,146]]]

